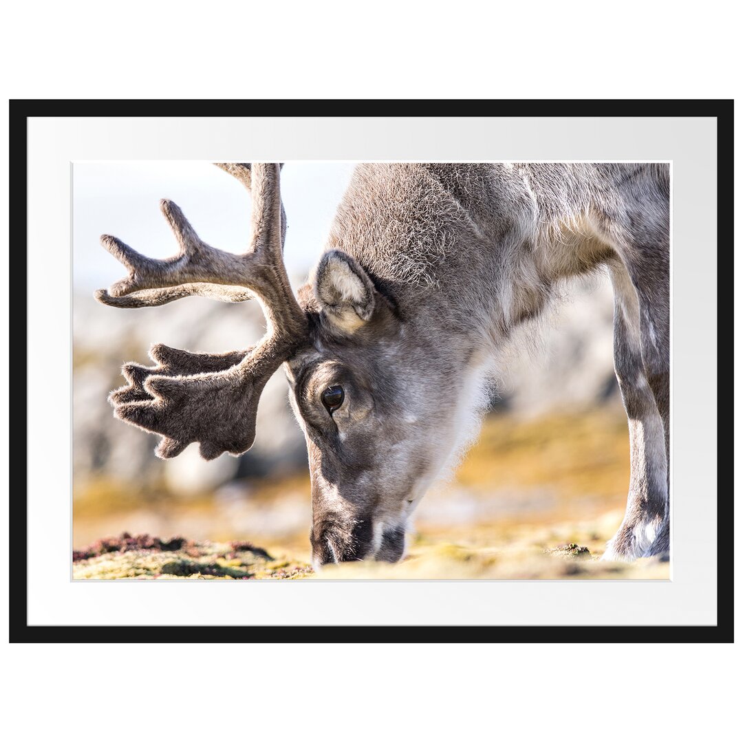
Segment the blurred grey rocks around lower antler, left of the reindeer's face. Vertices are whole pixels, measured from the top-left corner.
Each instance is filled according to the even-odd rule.
[[[102,307],[91,296],[76,296],[74,306],[74,466],[76,481],[110,478],[132,486],[158,482],[176,493],[201,493],[235,478],[286,474],[306,464],[304,440],[288,406],[279,370],[261,396],[253,448],[239,458],[222,455],[206,462],[192,445],[162,461],[152,451],[158,437],[114,420],[106,397],[125,384],[124,361],[152,365],[152,343],[189,351],[219,352],[247,348],[264,330],[257,302],[226,305],[189,298],[160,308],[119,310]]]

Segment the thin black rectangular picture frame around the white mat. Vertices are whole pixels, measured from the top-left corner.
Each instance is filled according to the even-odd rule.
[[[9,400],[10,461],[27,452],[27,120],[29,117],[713,117],[717,131],[719,246],[733,244],[732,100],[11,100],[10,101],[10,348],[14,374]],[[23,246],[19,250],[19,246]],[[733,364],[730,343],[733,273],[718,261],[718,383]],[[724,404],[724,403],[723,403]],[[718,412],[721,401],[717,400]],[[732,477],[732,441],[718,415],[718,481]],[[727,473],[727,476],[724,476]],[[9,497],[9,629],[12,643],[233,643],[239,628],[225,626],[30,626],[27,620],[27,476],[14,469]],[[284,642],[621,642],[730,643],[733,641],[733,499],[717,499],[716,626],[314,626],[282,635]],[[271,627],[252,626],[250,641],[275,641]],[[212,632],[211,630],[215,630]]]

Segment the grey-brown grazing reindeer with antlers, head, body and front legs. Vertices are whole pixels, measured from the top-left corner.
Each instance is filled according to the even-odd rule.
[[[311,282],[295,298],[282,259],[279,165],[218,163],[250,189],[250,247],[223,253],[162,201],[180,250],[163,261],[102,243],[129,276],[114,307],[255,296],[253,348],[123,366],[114,415],[161,435],[155,453],[250,448],[263,386],[284,363],[305,432],[314,562],[403,555],[426,487],[472,438],[499,346],[562,279],[606,265],[614,364],[631,442],[629,499],[605,558],[669,552],[669,172],[652,163],[357,166]]]

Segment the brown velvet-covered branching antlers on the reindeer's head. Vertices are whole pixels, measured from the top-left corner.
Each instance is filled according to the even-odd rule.
[[[280,166],[215,164],[250,189],[252,229],[246,253],[233,255],[207,245],[178,206],[164,200],[160,208],[180,246],[172,258],[147,258],[115,237],[101,238],[103,247],[129,268],[126,279],[96,292],[96,299],[106,305],[152,307],[192,295],[243,302],[256,296],[266,315],[267,334],[247,351],[191,354],[155,345],[150,357],[158,366],[123,366],[129,385],[109,396],[114,415],[160,434],[155,453],[162,458],[180,454],[192,441],[200,442],[206,459],[250,449],[263,387],[307,334],[307,317],[291,291],[282,258]]]

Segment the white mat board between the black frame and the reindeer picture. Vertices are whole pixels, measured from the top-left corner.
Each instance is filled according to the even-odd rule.
[[[71,402],[29,401],[29,623],[688,625],[716,622],[716,147],[713,119],[31,118],[30,389],[69,389],[70,161],[673,160],[672,577],[658,581],[69,583]],[[59,244],[58,250],[47,246]],[[700,251],[706,256],[699,261]],[[50,312],[53,306],[54,311]],[[698,358],[707,359],[698,394]],[[48,448],[49,441],[57,446]],[[43,459],[36,452],[44,452]],[[39,464],[43,461],[44,466]],[[159,584],[158,584],[159,585]],[[207,598],[208,597],[208,598]],[[569,611],[566,611],[569,607]]]

